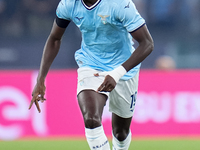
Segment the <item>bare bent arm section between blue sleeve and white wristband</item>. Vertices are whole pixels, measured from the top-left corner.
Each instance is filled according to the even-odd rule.
[[[141,63],[154,49],[153,39],[145,24],[130,34],[139,43],[139,46],[130,58],[122,64],[127,72]]]

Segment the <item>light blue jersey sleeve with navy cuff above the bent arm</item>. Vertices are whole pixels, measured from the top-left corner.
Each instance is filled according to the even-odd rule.
[[[118,7],[117,18],[128,32],[133,32],[145,24],[132,0],[123,0]]]

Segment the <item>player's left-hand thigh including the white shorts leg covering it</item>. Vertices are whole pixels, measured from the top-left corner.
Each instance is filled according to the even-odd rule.
[[[104,80],[102,76],[94,76],[95,73],[99,72],[87,67],[78,69],[77,97],[84,116],[101,115],[107,96],[109,95],[108,92],[96,92]]]

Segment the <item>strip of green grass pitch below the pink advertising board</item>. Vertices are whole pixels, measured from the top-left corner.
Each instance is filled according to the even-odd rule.
[[[23,139],[0,141],[0,150],[89,150],[84,139]],[[200,138],[133,139],[129,150],[200,150]]]

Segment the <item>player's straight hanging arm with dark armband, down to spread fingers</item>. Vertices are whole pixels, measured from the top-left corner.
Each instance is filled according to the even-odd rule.
[[[70,21],[68,20],[63,20],[57,17],[53,23],[52,30],[50,32],[50,35],[43,49],[43,55],[42,55],[42,60],[40,64],[40,70],[37,77],[37,83],[32,92],[32,100],[31,100],[29,109],[31,109],[33,103],[35,103],[38,111],[41,112],[38,101],[43,102],[44,100],[46,100],[44,98],[45,89],[46,89],[45,84],[44,84],[45,78],[53,60],[58,54],[58,51],[61,45],[62,36],[69,22]]]

